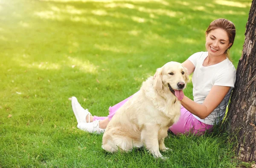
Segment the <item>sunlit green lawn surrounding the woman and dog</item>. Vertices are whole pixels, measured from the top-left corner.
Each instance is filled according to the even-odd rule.
[[[76,128],[68,98],[108,115],[158,67],[204,51],[217,18],[236,25],[237,66],[250,2],[0,0],[0,167],[236,167],[232,143],[217,131],[169,134],[165,161],[145,148],[108,154],[102,135]]]

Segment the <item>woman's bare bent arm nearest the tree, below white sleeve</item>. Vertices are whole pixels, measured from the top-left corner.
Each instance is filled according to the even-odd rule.
[[[180,102],[189,112],[201,119],[204,119],[207,118],[214,109],[216,109],[229,90],[230,87],[214,85],[205,98],[203,104],[198,104],[186,96],[184,96]]]

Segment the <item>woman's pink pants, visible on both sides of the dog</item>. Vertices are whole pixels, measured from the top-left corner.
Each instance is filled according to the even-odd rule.
[[[98,117],[94,116],[93,120],[104,120],[108,118],[111,120],[113,115],[115,115],[116,111],[125,104],[133,95],[125,100],[119,102],[118,104],[114,105],[113,107],[109,107],[109,115],[108,117]],[[207,130],[210,132],[212,130],[213,125],[208,125],[202,123],[198,119],[196,119],[191,112],[185,109],[183,106],[180,108],[180,119],[177,123],[173,124],[169,127],[169,130],[172,131],[175,135],[176,134],[196,134],[196,135],[203,135]]]

